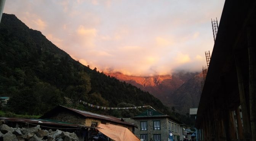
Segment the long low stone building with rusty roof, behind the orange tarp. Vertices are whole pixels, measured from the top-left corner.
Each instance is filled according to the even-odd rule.
[[[89,127],[97,127],[99,124],[114,124],[126,127],[130,131],[134,130],[133,124],[125,122],[122,119],[118,119],[117,117],[77,110],[61,105],[45,113],[43,116],[40,117],[40,119],[54,119],[62,122],[80,124]]]

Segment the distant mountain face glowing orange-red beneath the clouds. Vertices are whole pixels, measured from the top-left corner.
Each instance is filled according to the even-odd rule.
[[[154,77],[128,76],[120,72],[105,74],[115,77],[120,81],[130,83],[143,91],[148,91],[160,99],[165,105],[174,106],[182,113],[186,112],[184,107],[191,108],[198,105],[200,97],[194,97],[194,95],[198,95],[194,93],[201,91],[201,82],[203,81],[202,73],[185,71],[175,72],[172,75]],[[186,89],[183,89],[184,87]],[[188,96],[183,96],[184,94]],[[191,98],[191,96],[193,97]],[[191,102],[187,102],[186,97]]]

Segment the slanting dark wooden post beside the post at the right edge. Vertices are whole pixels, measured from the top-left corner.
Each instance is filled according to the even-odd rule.
[[[248,117],[248,110],[246,106],[245,91],[243,87],[243,76],[242,76],[241,66],[237,56],[235,56],[235,66],[237,69],[238,89],[239,89],[239,97],[240,97],[242,117],[243,117],[244,138],[247,140],[250,140],[251,127],[250,127],[250,121]]]

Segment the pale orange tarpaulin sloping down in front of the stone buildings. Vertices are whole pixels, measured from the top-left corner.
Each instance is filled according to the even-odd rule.
[[[97,130],[115,141],[140,141],[128,128],[113,124],[99,124],[98,127]]]

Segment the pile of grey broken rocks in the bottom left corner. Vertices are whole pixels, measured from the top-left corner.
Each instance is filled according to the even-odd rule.
[[[12,128],[0,125],[0,140],[3,141],[78,141],[77,135],[61,130],[41,130],[40,125],[32,128]]]

